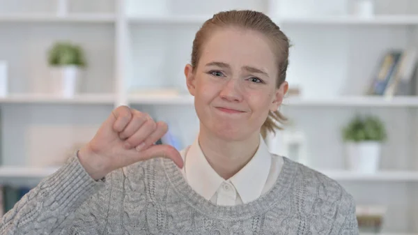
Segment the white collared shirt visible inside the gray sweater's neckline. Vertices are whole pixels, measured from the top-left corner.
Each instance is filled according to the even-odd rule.
[[[283,165],[283,158],[268,151],[261,135],[253,158],[228,180],[212,169],[203,155],[198,138],[180,153],[185,162],[183,175],[187,183],[202,197],[223,206],[245,204],[268,192]]]

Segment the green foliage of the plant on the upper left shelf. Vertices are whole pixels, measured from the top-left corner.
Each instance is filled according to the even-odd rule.
[[[84,52],[79,45],[58,42],[49,50],[48,62],[51,66],[86,66]]]

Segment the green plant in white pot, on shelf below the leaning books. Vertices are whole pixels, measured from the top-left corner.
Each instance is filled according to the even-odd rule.
[[[359,115],[343,128],[348,168],[363,173],[378,169],[382,142],[387,139],[385,126],[376,116]]]

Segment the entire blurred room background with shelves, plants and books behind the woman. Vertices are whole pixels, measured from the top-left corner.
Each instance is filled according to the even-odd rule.
[[[201,24],[232,9],[291,40],[271,151],[339,181],[362,234],[418,234],[417,0],[0,0],[0,215],[118,105],[191,144],[183,68]]]

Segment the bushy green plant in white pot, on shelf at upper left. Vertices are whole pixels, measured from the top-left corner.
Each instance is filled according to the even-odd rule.
[[[67,42],[55,43],[49,50],[48,62],[52,93],[68,98],[74,96],[79,91],[82,69],[86,66],[82,48]]]

